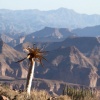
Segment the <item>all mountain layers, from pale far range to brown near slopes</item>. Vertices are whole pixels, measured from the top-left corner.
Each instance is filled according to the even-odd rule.
[[[2,9],[0,38],[0,78],[26,78],[28,62],[15,61],[26,56],[23,48],[35,43],[49,51],[45,67],[36,64],[36,78],[100,86],[100,15],[78,14],[65,8]],[[42,82],[42,86],[48,83]]]

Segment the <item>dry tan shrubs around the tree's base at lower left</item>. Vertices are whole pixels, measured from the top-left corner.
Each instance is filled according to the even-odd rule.
[[[31,96],[27,97],[26,92],[12,90],[5,86],[0,86],[0,95],[8,97],[10,100],[47,100],[50,95],[44,90],[32,90]]]

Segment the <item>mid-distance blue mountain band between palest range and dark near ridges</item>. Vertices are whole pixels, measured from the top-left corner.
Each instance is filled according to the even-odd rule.
[[[9,36],[9,34],[0,34],[0,37],[5,43],[9,44],[12,47],[15,47],[16,45],[20,43],[25,43],[25,42],[30,42],[30,43],[61,42],[61,41],[64,41],[68,37],[70,38],[97,37],[97,41],[100,43],[100,25],[93,26],[93,27],[80,28],[80,29],[73,29],[73,30],[69,30],[68,28],[45,27],[39,31],[32,32],[28,35],[11,37]],[[84,40],[82,41],[85,42]]]

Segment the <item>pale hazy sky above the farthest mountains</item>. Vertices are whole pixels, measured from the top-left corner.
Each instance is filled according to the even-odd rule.
[[[51,10],[60,7],[79,13],[100,14],[100,0],[0,0],[0,9]]]

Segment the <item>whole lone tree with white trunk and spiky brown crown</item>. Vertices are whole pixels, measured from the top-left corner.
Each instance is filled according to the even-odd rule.
[[[29,59],[29,70],[28,70],[27,82],[26,82],[26,92],[28,95],[30,95],[32,79],[34,75],[35,62],[39,62],[43,66],[42,60],[43,59],[46,60],[44,58],[44,55],[47,53],[47,51],[43,51],[37,47],[35,48],[34,46],[33,48],[27,47],[24,50],[28,53],[27,57],[17,62],[22,62],[25,59]]]

